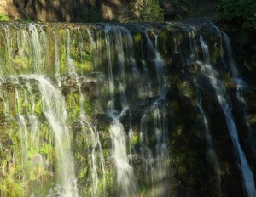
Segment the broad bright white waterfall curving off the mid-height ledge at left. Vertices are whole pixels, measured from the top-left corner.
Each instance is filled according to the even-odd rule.
[[[35,79],[39,82],[44,115],[55,134],[55,149],[60,181],[60,185],[57,185],[57,187],[60,187],[58,193],[67,197],[78,196],[73,156],[69,152],[70,136],[67,128],[67,111],[64,99],[59,90],[43,76],[37,76]]]

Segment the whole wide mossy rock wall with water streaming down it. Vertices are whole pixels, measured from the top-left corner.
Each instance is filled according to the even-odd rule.
[[[253,102],[224,37],[207,20],[0,24],[1,194],[253,196]]]

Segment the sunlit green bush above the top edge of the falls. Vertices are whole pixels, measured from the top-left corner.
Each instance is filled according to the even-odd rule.
[[[134,17],[136,21],[160,22],[164,20],[164,12],[158,0],[138,0],[134,6]]]

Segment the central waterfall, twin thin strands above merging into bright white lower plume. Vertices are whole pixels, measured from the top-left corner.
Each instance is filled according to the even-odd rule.
[[[105,43],[108,53],[108,75],[109,75],[109,95],[110,99],[108,101],[108,115],[112,117],[113,121],[110,125],[110,137],[112,138],[113,146],[113,159],[115,160],[117,168],[117,183],[119,184],[120,196],[136,196],[137,195],[137,180],[134,176],[133,170],[128,162],[128,155],[126,150],[126,139],[125,139],[125,129],[122,123],[119,121],[119,118],[122,115],[125,115],[127,108],[127,101],[125,96],[125,57],[122,46],[122,32],[119,28],[114,28],[113,31],[110,31],[109,26],[106,26],[105,30]],[[116,38],[115,45],[111,45],[110,33],[113,33],[113,36]],[[125,31],[129,34],[129,31]],[[117,114],[115,110],[114,102],[114,80],[113,80],[113,70],[112,70],[112,59],[111,55],[115,52],[112,51],[112,47],[116,47],[116,53],[118,54],[118,62],[120,66],[120,102],[122,105],[122,111],[120,114]],[[115,50],[115,48],[113,48]]]

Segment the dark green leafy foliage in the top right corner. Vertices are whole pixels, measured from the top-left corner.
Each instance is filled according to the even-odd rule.
[[[255,0],[221,0],[218,11],[218,20],[232,21],[244,29],[256,30]]]

